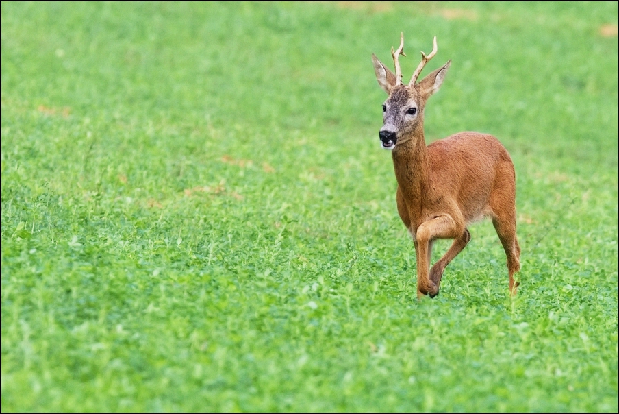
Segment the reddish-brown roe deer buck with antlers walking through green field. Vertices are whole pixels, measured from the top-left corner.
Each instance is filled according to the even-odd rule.
[[[428,56],[409,82],[402,84],[398,58],[400,47],[391,54],[392,73],[374,54],[372,62],[379,85],[389,97],[383,103],[383,127],[379,137],[384,149],[392,151],[398,182],[396,202],[400,218],[413,237],[417,258],[417,297],[438,295],[445,267],[470,241],[467,226],[491,217],[507,255],[509,291],[516,295],[520,270],[520,246],[516,239],[516,173],[503,145],[492,135],[459,132],[425,144],[423,111],[427,99],[440,88],[449,60],[419,83],[417,77],[436,54],[436,37]],[[436,239],[454,239],[451,247],[431,269],[432,244]]]

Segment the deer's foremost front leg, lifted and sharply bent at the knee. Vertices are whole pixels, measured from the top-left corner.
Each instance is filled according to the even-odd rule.
[[[435,217],[417,229],[416,259],[417,259],[417,298],[422,295],[435,297],[438,295],[439,283],[429,278],[428,254],[431,242],[435,239],[457,239],[462,236],[464,226],[458,226],[449,215]]]

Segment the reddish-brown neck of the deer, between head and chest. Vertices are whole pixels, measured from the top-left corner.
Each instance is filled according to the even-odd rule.
[[[418,199],[429,180],[430,172],[423,124],[403,136],[400,141],[392,151],[396,180],[407,198]]]

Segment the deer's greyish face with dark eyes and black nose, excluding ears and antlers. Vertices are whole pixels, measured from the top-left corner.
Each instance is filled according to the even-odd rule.
[[[400,86],[392,89],[383,103],[383,127],[379,132],[381,146],[384,149],[394,149],[399,138],[417,125],[422,110],[414,87]]]

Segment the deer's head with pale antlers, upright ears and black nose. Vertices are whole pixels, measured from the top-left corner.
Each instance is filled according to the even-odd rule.
[[[381,145],[384,149],[394,149],[396,145],[403,144],[412,139],[423,138],[423,110],[427,99],[440,88],[447,69],[451,65],[449,60],[444,66],[436,69],[423,78],[419,83],[417,78],[425,64],[436,54],[436,36],[432,53],[426,56],[421,52],[421,62],[413,73],[408,85],[402,84],[402,71],[400,69],[399,56],[406,56],[403,51],[404,34],[400,35],[400,47],[391,55],[396,73],[392,73],[378,58],[372,54],[374,71],[378,84],[388,93],[389,97],[383,103],[383,127],[379,132]],[[420,134],[416,134],[420,132]]]

